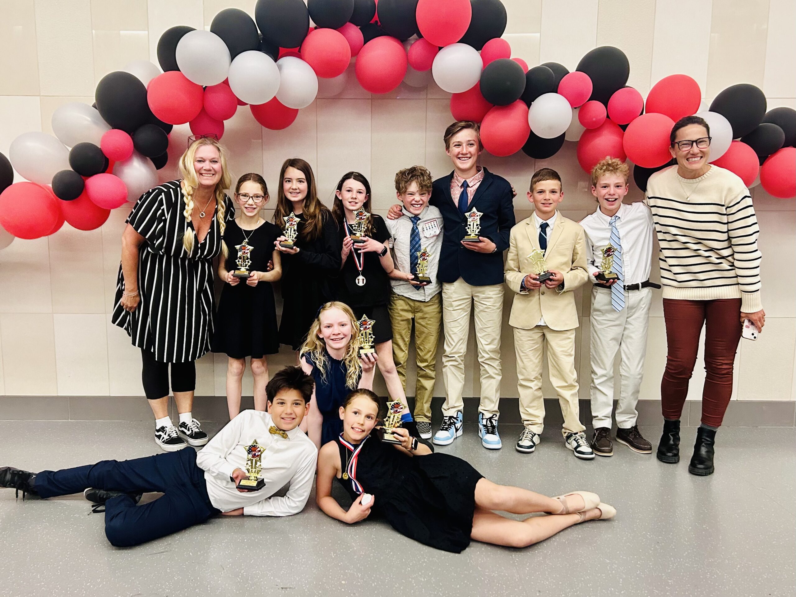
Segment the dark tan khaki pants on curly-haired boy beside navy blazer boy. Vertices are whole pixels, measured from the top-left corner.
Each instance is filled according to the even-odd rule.
[[[406,361],[409,340],[412,338],[412,319],[415,320],[415,353],[417,380],[415,383],[415,420],[431,423],[431,397],[436,379],[437,346],[442,327],[442,300],[438,294],[427,302],[396,295],[390,296],[392,325],[392,360],[398,369],[400,383],[406,390]],[[408,393],[408,392],[407,392]]]

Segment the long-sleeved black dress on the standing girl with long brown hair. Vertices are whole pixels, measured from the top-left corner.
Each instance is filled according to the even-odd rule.
[[[326,211],[318,238],[303,240],[303,214],[298,215],[298,253],[282,254],[282,322],[279,342],[298,350],[324,302],[334,300],[334,283],[340,271],[338,226]],[[280,232],[281,236],[281,232]]]

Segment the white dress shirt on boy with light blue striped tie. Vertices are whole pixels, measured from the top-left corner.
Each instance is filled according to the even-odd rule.
[[[642,201],[622,203],[616,213],[616,227],[622,240],[622,271],[625,284],[639,284],[650,279],[652,267],[652,238],[654,233],[652,212]],[[599,207],[595,213],[580,222],[586,231],[588,271],[592,283],[599,282],[595,273],[603,261],[603,249],[611,240],[611,217]]]

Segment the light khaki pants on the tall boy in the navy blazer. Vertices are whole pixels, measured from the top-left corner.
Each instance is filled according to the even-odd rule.
[[[464,356],[470,332],[470,310],[475,303],[475,340],[481,365],[481,404],[478,411],[497,415],[500,401],[500,330],[503,319],[503,284],[470,286],[459,278],[443,283],[443,381],[444,416],[455,416],[464,409]]]

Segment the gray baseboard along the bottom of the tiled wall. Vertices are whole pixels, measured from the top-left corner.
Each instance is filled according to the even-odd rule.
[[[412,405],[414,400],[409,399]],[[176,419],[174,400],[170,412]],[[443,398],[431,402],[432,423],[439,424]],[[244,397],[241,408],[254,408],[251,396]],[[517,398],[502,398],[500,401],[501,423],[520,424]],[[563,423],[556,399],[545,399],[546,426],[555,427]],[[683,409],[682,424],[696,427],[700,424],[702,403],[689,401]],[[227,401],[222,396],[196,396],[193,400],[193,416],[202,421],[228,420]],[[146,399],[141,396],[0,396],[0,420],[6,421],[146,421],[152,412]],[[464,420],[478,420],[478,398],[464,399]],[[580,400],[580,420],[589,426],[591,404]],[[640,400],[638,402],[638,424],[661,424],[661,401]],[[796,424],[796,402],[779,400],[733,400],[724,416],[725,427],[794,427]]]

